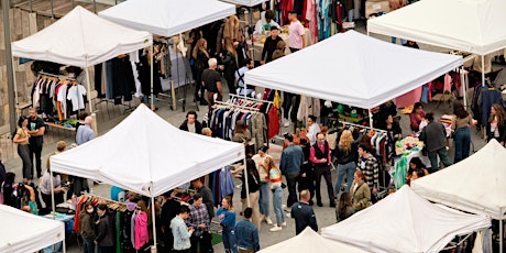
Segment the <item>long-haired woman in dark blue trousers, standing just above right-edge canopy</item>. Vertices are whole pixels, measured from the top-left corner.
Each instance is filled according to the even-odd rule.
[[[455,142],[453,163],[457,164],[469,156],[471,147],[470,128],[473,125],[473,117],[471,117],[460,102],[453,105],[453,114],[455,116],[451,120],[451,130],[453,132],[453,141]]]

